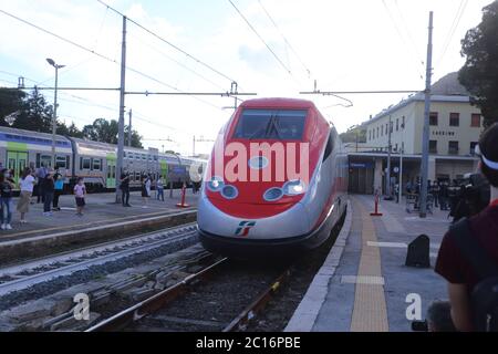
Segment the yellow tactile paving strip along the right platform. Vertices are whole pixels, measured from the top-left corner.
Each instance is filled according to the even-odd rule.
[[[362,277],[362,279],[365,279],[364,277],[382,277],[381,251],[377,247],[367,246],[369,241],[377,242],[372,217],[361,202],[356,200],[354,200],[354,210],[357,210],[362,215],[362,254],[357,277]],[[350,331],[388,331],[384,287],[378,284],[378,282],[356,283]]]

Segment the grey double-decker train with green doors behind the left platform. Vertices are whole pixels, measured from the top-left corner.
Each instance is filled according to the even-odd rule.
[[[89,190],[115,189],[117,146],[113,144],[56,135],[55,165],[64,176],[65,187],[71,187],[76,177],[83,177]],[[162,154],[156,148],[125,147],[123,168],[131,174],[131,187],[138,188],[144,175],[154,179],[159,176],[174,187],[190,184],[191,158]],[[200,164],[203,164],[200,162]],[[0,167],[14,170],[15,183],[24,167],[32,169],[42,165],[52,167],[52,135],[45,133],[0,127]]]

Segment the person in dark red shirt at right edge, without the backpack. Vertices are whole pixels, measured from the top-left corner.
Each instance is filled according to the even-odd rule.
[[[498,123],[483,134],[476,153],[480,156],[479,168],[491,187],[491,202],[469,219],[469,230],[471,238],[498,264]],[[452,230],[443,239],[435,271],[448,283],[452,320],[456,330],[473,331],[470,294],[483,279],[461,254]]]

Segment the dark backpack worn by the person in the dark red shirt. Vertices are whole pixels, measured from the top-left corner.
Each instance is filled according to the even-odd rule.
[[[470,295],[475,329],[498,332],[498,264],[471,237],[467,218],[455,223],[450,230],[461,254],[480,279]]]

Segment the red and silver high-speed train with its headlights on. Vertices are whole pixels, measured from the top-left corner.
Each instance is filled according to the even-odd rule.
[[[312,102],[243,102],[221,129],[198,204],[201,243],[237,258],[322,244],[345,210],[347,157]]]

